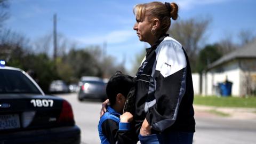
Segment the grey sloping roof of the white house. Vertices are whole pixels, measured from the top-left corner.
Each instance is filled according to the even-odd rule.
[[[237,49],[234,52],[223,55],[223,57],[211,63],[211,65],[208,66],[208,69],[211,69],[213,67],[221,65],[222,63],[238,58],[256,58],[256,40],[252,43],[245,45],[241,49]]]

